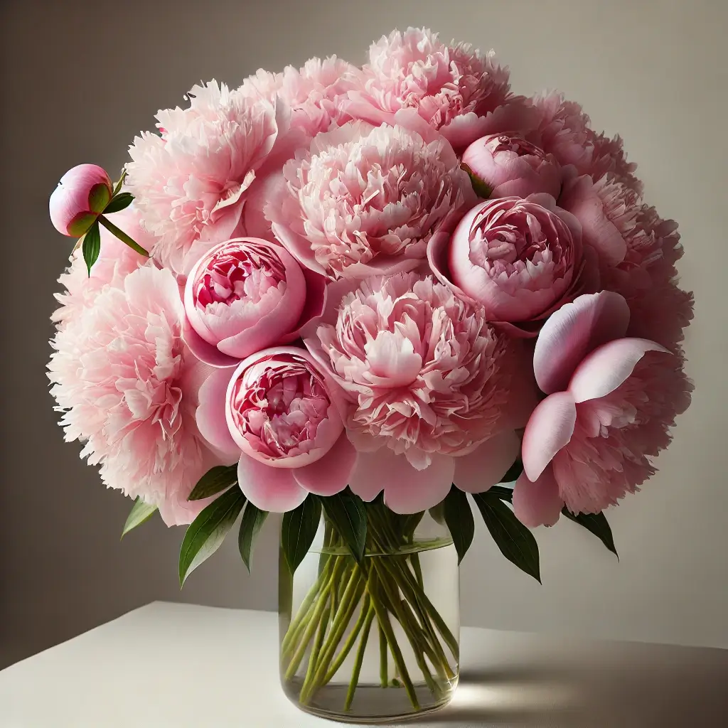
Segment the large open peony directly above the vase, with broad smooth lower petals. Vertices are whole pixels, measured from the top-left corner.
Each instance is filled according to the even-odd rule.
[[[345,392],[360,450],[349,486],[363,498],[384,488],[390,508],[414,513],[453,480],[485,490],[515,459],[513,429],[494,438],[510,384],[505,339],[432,277],[371,278],[340,301],[332,293],[304,343]],[[505,467],[494,451],[510,458]]]

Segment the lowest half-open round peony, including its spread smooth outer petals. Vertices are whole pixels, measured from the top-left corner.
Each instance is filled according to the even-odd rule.
[[[238,481],[250,502],[282,513],[309,493],[347,486],[356,451],[335,389],[304,349],[266,349],[205,382],[197,423],[215,448],[240,458]]]

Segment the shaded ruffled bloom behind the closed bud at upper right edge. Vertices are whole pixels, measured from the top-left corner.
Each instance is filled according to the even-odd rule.
[[[625,186],[641,192],[642,183],[633,174],[637,165],[627,161],[619,136],[609,139],[596,133],[582,107],[558,92],[536,95],[531,102],[539,120],[529,140],[553,154],[562,166],[574,165],[579,175],[590,175],[597,181],[611,173]]]

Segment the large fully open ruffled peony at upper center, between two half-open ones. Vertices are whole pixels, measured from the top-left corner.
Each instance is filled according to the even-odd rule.
[[[443,138],[350,122],[286,163],[265,212],[305,266],[366,277],[421,266],[427,241],[474,197]]]

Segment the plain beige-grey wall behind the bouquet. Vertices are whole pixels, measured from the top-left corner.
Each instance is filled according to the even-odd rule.
[[[183,531],[160,522],[123,543],[130,502],[105,491],[55,425],[44,366],[68,242],[47,197],[79,162],[118,170],[135,132],[213,76],[312,55],[362,62],[406,25],[495,47],[515,90],[559,87],[619,132],[646,197],[681,223],[696,291],[697,389],[660,474],[610,515],[621,562],[571,523],[540,529],[540,586],[478,531],[462,569],[464,622],[496,628],[728,646],[724,0],[4,0],[1,17],[2,368],[0,666],[152,599],[274,609],[269,523],[247,577],[234,543],[182,593]]]

